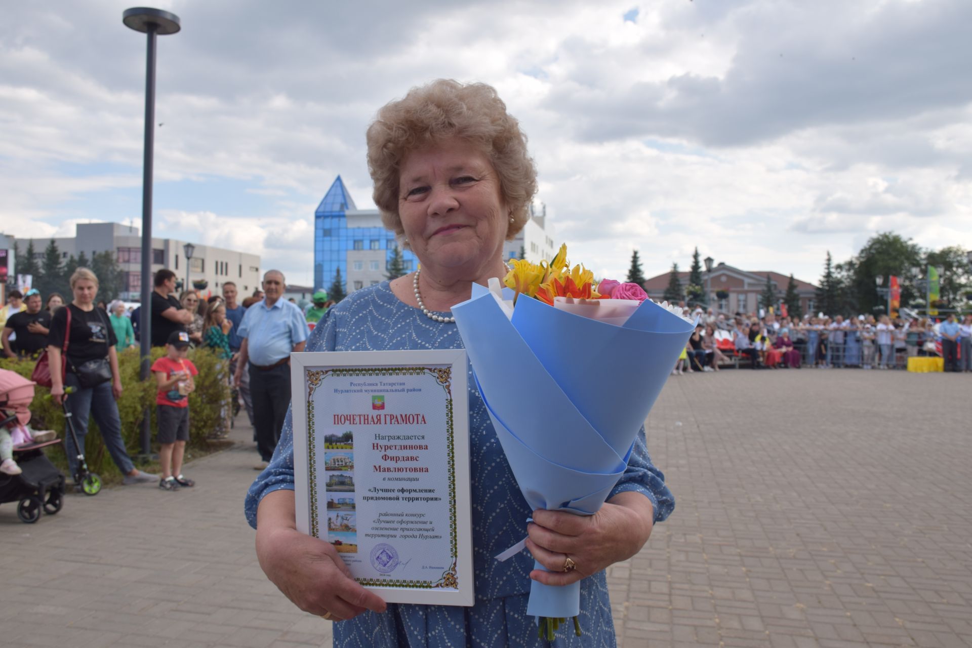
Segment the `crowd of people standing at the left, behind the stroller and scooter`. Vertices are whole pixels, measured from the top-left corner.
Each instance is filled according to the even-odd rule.
[[[84,454],[88,420],[93,417],[125,484],[158,479],[165,491],[194,484],[182,474],[189,440],[188,395],[197,373],[187,357],[191,347],[212,351],[231,386],[223,410],[225,425],[211,436],[226,436],[231,415],[242,400],[260,453],[255,467],[266,466],[290,404],[290,354],[303,348],[308,322],[320,320],[330,307],[326,292],[315,293],[314,307],[305,315],[294,300],[283,299],[285,279],[277,270],[265,273],[261,290],[242,303],[232,282],[223,284],[220,295],[184,290],[176,296],[175,273],[156,272],[150,317],[151,346],[165,348],[165,355],[152,366],[162,474],[149,475],[136,469],[127,455],[116,404],[123,390],[118,357],[140,344],[141,307],[128,308],[120,300],[95,301],[98,278],[87,268],[78,268],[70,286],[73,298],[67,304],[57,293],[48,295],[45,302],[38,290],[25,294],[11,290],[0,309],[0,327],[5,357],[36,360],[45,352],[49,355],[52,395],[58,402],[67,400],[80,446],[75,448],[71,437],[65,438],[72,475],[77,456]]]

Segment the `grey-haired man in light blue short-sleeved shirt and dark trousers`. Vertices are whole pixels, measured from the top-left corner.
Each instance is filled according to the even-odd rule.
[[[233,383],[239,387],[247,367],[260,452],[260,463],[254,466],[258,470],[273,457],[291,404],[291,353],[303,351],[307,343],[303,313],[283,298],[284,286],[284,273],[268,270],[263,275],[263,300],[247,309],[236,331],[241,342]]]

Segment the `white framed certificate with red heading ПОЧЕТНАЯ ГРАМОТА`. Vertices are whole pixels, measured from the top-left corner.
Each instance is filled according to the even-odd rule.
[[[472,605],[466,352],[291,355],[297,529],[390,603]]]

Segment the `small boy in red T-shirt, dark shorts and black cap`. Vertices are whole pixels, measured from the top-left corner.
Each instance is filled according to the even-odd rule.
[[[189,394],[195,390],[192,376],[199,373],[186,358],[189,342],[189,333],[173,331],[165,344],[165,356],[152,365],[158,382],[158,459],[162,464],[158,488],[163,491],[178,491],[195,484],[182,474],[183,454],[189,441]]]

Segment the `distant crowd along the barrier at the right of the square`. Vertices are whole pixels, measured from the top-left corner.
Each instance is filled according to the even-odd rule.
[[[733,317],[696,308],[698,318],[674,374],[718,371],[728,364],[752,369],[801,367],[901,369],[908,358],[938,356],[950,372],[972,371],[972,315],[906,321],[887,315],[845,319],[807,316]]]

